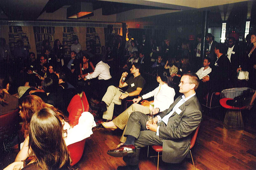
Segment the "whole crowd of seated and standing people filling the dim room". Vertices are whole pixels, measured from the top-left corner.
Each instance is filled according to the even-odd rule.
[[[74,39],[68,57],[59,39],[53,49],[44,40],[37,58],[20,40],[12,54],[1,38],[0,114],[19,107],[25,136],[15,162],[6,169],[71,169],[67,152],[70,135],[63,137],[63,133],[75,128],[68,123],[67,107],[81,91],[97,106],[104,128],[124,129],[117,149],[108,151],[114,157],[124,156],[127,166],[118,169],[139,169],[140,148],[147,145],[163,145],[165,162],[181,162],[189,150],[189,135],[201,122],[200,103],[205,95],[220,95],[223,89],[234,87],[256,87],[255,33],[248,35],[245,43],[234,37],[226,44],[217,43],[211,33],[205,37],[205,56],[201,54],[202,34],[197,35],[194,49],[188,40],[171,46],[171,40],[165,39],[159,45],[145,35],[140,41],[128,34],[125,43],[113,40],[113,46],[102,47],[101,54],[95,54],[93,47],[82,51],[79,40]],[[249,73],[246,80],[237,79],[242,72]],[[157,87],[150,87],[153,83],[147,81],[146,74],[156,77]],[[115,78],[119,79],[118,87]],[[148,91],[143,91],[145,86],[150,87]],[[153,96],[154,109],[138,104]],[[114,118],[115,105],[126,99],[134,104]],[[148,114],[155,115],[152,124]],[[49,140],[41,141],[41,135]],[[31,155],[34,159],[25,166],[21,161]]]

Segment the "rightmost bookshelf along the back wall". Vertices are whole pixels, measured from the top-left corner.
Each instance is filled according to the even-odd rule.
[[[90,41],[93,42],[93,46],[96,54],[100,54],[100,37],[93,27],[87,27],[86,31],[86,49],[90,49]]]

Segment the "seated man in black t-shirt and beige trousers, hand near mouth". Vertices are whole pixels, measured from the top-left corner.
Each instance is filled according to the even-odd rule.
[[[123,79],[127,77],[128,73],[123,72],[119,80],[119,88],[128,87],[125,92],[120,91],[115,86],[108,87],[106,94],[99,104],[101,112],[104,112],[102,116],[103,119],[112,120],[115,104],[121,105],[122,100],[128,96],[140,95],[145,85],[145,79],[140,75],[140,64],[134,63],[130,71],[133,76],[124,82]]]

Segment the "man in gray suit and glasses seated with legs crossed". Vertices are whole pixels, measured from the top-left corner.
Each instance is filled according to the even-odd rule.
[[[163,161],[180,163],[190,148],[190,134],[202,120],[202,108],[195,90],[199,79],[195,73],[183,74],[179,84],[178,97],[169,109],[159,113],[148,122],[148,116],[133,112],[127,123],[126,142],[119,148],[109,150],[108,155],[124,157],[127,166],[117,169],[139,169],[140,148],[151,145],[163,145]]]

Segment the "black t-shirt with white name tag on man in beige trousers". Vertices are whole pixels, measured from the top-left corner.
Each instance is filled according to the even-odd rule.
[[[143,89],[143,87],[146,83],[145,79],[141,75],[139,75],[135,78],[133,76],[131,76],[125,82],[128,84],[128,88],[126,90],[127,92],[133,92],[133,91],[137,90],[138,87]]]

